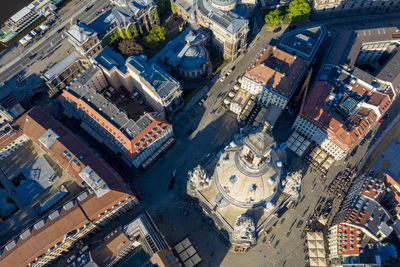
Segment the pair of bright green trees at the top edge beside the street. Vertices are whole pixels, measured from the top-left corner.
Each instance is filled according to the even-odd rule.
[[[270,10],[265,15],[265,23],[269,26],[278,26],[290,21],[306,22],[310,13],[311,7],[307,0],[294,0],[290,2],[289,7]]]

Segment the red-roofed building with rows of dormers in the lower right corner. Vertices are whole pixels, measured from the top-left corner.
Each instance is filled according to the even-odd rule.
[[[388,237],[398,219],[398,183],[370,171],[355,179],[329,229],[329,257],[336,264],[360,263],[363,246]]]

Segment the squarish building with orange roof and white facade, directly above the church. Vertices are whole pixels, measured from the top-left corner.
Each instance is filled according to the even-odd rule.
[[[242,77],[242,88],[264,105],[284,109],[307,70],[307,64],[276,47],[266,45]]]

